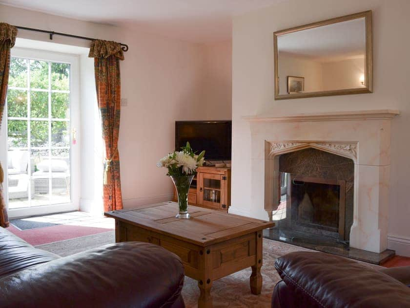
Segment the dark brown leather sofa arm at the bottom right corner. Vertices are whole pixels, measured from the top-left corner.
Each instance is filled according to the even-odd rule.
[[[410,266],[374,269],[317,252],[292,252],[275,262],[282,278],[274,308],[408,308]]]

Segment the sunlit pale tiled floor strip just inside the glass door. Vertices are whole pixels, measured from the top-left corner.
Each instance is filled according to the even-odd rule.
[[[104,216],[96,216],[85,212],[68,212],[60,214],[52,214],[45,216],[28,217],[23,220],[51,222],[58,224],[66,224],[72,226],[96,227],[96,228],[115,228],[115,220]]]

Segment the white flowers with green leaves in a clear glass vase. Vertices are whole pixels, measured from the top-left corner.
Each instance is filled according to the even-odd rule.
[[[172,179],[178,195],[179,213],[177,218],[190,218],[188,214],[188,191],[192,179],[196,175],[196,169],[204,164],[205,151],[199,155],[191,149],[189,142],[181,148],[182,151],[169,153],[161,158],[157,167],[168,168],[166,174]]]

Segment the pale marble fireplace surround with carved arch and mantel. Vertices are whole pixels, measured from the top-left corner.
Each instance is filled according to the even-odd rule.
[[[252,196],[264,196],[268,215],[276,208],[281,154],[314,148],[348,157],[354,162],[350,246],[383,252],[389,217],[390,122],[398,114],[365,110],[245,117],[251,130]]]

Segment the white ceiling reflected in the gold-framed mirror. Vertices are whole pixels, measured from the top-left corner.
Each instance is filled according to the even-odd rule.
[[[365,30],[365,19],[359,18],[293,32],[278,37],[278,51],[320,62],[363,57]]]

